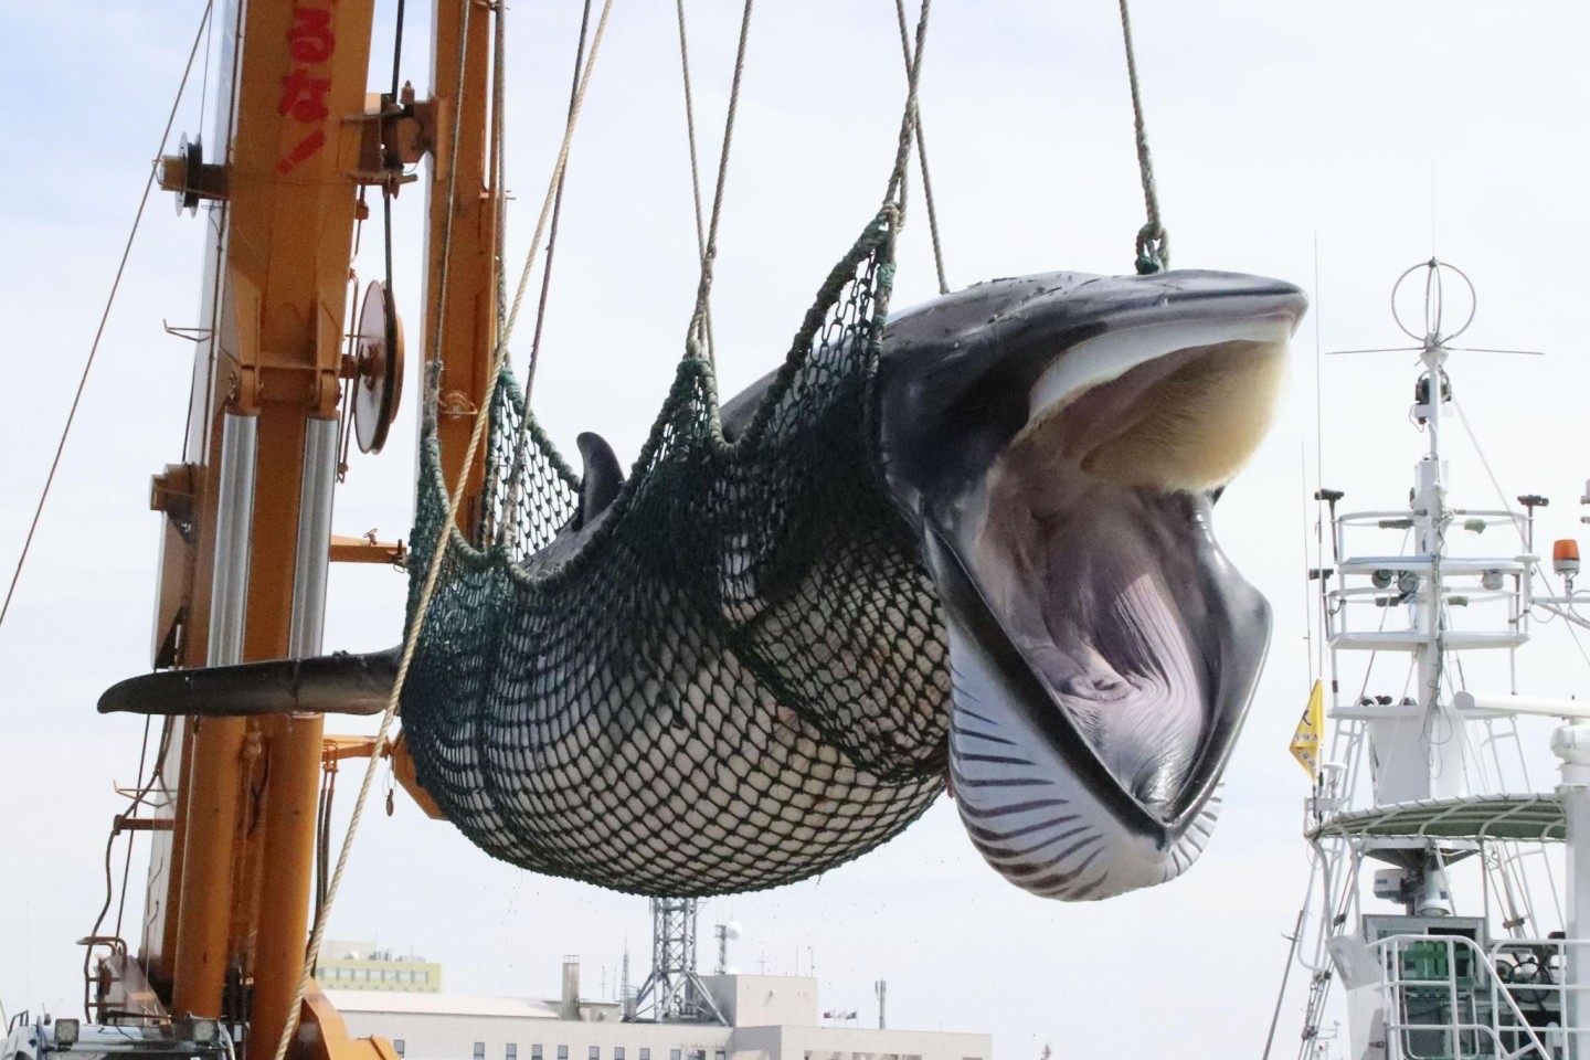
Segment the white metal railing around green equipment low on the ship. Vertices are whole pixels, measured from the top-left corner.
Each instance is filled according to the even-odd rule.
[[[1568,984],[1568,952],[1590,963],[1590,939],[1506,939],[1482,950],[1461,934],[1393,934],[1375,942],[1385,1057],[1394,1060],[1565,1060],[1584,1057],[1587,985]]]

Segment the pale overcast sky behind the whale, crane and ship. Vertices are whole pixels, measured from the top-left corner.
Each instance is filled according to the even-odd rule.
[[[0,561],[21,548],[72,388],[94,337],[148,162],[181,76],[199,0],[0,0],[0,92],[13,156],[0,167]],[[390,68],[380,5],[377,73]],[[426,92],[428,5],[409,27],[405,76]],[[693,0],[703,153],[716,154],[738,5]],[[523,256],[556,148],[577,5],[509,13],[510,256]],[[534,402],[572,448],[603,432],[638,451],[681,353],[695,272],[673,5],[617,0],[569,172],[564,242]],[[1315,329],[1324,348],[1396,345],[1396,275],[1433,251],[1480,291],[1476,354],[1453,367],[1458,400],[1506,496],[1553,497],[1541,537],[1577,528],[1590,475],[1582,404],[1587,14],[1569,3],[1463,0],[1138,0],[1138,65],[1164,215],[1181,267],[1275,275],[1309,288],[1293,386],[1277,429],[1226,493],[1218,531],[1274,602],[1269,669],[1231,763],[1215,841],[1181,880],[1103,904],[1045,903],[989,871],[941,801],[894,844],[819,880],[714,899],[733,917],[746,971],[814,966],[824,1008],[876,1019],[889,982],[897,1027],[991,1031],[1002,1060],[1258,1055],[1307,880],[1297,828],[1307,779],[1286,755],[1313,672],[1304,642],[1305,497],[1348,489],[1361,507],[1406,497],[1420,439],[1406,420],[1406,354],[1331,358],[1315,445]],[[892,5],[758,5],[723,218],[714,299],[722,393],[762,375],[828,265],[871,216],[903,92]],[[213,103],[215,92],[208,94]],[[199,86],[176,130],[208,129]],[[1142,199],[1116,8],[940,0],[922,114],[951,283],[1051,269],[1130,269]],[[418,188],[404,191],[399,305],[418,331]],[[180,459],[202,219],[157,194],[89,380],[56,493],[0,628],[0,1003],[72,1011],[81,952],[103,899],[103,844],[135,779],[142,723],[99,718],[114,680],[146,669],[159,520],[148,478]],[[895,305],[933,292],[925,215],[902,243]],[[364,234],[364,278],[378,270]],[[1317,250],[1318,248],[1318,253]],[[1315,262],[1318,261],[1318,275]],[[515,267],[517,269],[517,267]],[[517,277],[517,272],[515,272]],[[523,356],[528,329],[515,354]],[[415,380],[380,458],[356,458],[335,529],[407,536]],[[1460,453],[1455,453],[1460,455]],[[1498,497],[1464,466],[1456,488]],[[1510,553],[1515,542],[1496,542]],[[404,580],[337,569],[328,648],[399,637]],[[1542,647],[1541,694],[1582,690],[1577,656]],[[1401,677],[1398,677],[1401,680]],[[1394,691],[1388,687],[1386,691]],[[351,729],[353,723],[332,723]],[[1544,742],[1544,731],[1538,734]],[[1538,782],[1550,783],[1549,774]],[[345,791],[351,793],[351,783]],[[351,798],[343,799],[343,810]],[[118,877],[121,853],[118,847]],[[142,845],[135,866],[142,860]],[[137,879],[137,868],[134,876]],[[1460,895],[1463,898],[1463,895]],[[130,934],[142,896],[129,903]],[[644,977],[644,899],[491,861],[402,798],[361,833],[331,925],[445,965],[450,990],[553,995],[563,954],[607,993],[628,942]],[[606,971],[604,971],[606,969]],[[1296,979],[1294,979],[1296,984]],[[1285,1008],[1291,1055],[1301,993]]]

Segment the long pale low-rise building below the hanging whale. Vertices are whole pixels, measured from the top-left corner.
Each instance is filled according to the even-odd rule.
[[[568,969],[568,965],[564,966]],[[328,988],[353,1035],[404,1060],[992,1060],[989,1035],[824,1027],[806,976],[703,976],[728,1025],[623,1022],[617,1001]],[[323,984],[331,987],[331,984]],[[561,1019],[577,1014],[577,1019]]]

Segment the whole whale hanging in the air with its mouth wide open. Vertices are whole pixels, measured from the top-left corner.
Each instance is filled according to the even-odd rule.
[[[647,814],[590,812],[591,834],[571,838],[572,860],[552,871],[650,893],[776,885],[886,841],[925,809],[943,776],[971,844],[1022,890],[1100,899],[1177,877],[1210,838],[1270,628],[1264,598],[1215,540],[1213,509],[1266,432],[1305,308],[1296,286],[1259,277],[1054,272],[981,283],[892,315],[865,424],[878,489],[916,566],[876,593],[903,598],[925,585],[937,594],[940,625],[909,648],[935,667],[927,687],[948,694],[874,702],[863,693],[859,706],[844,706],[876,717],[862,718],[840,747],[762,680],[723,712],[762,733],[754,769],[725,758],[739,752],[703,750],[711,733],[684,731],[682,696],[663,723],[596,704],[598,721],[563,725],[556,747],[515,749],[520,758],[493,752],[494,761],[577,764],[590,806],[614,790],[606,772],[647,756],[676,756],[679,776],[692,783],[704,776],[706,787],[679,806],[649,804]],[[722,407],[725,439],[755,420],[776,377]],[[531,569],[577,556],[625,486],[606,442],[587,434],[579,448],[579,502]],[[758,598],[766,586],[735,583],[733,571],[744,567],[731,563],[733,542],[723,548],[723,613],[711,620],[749,621],[768,610]],[[698,604],[681,598],[679,605]],[[825,664],[865,675],[865,660],[835,655]],[[121,682],[99,709],[375,714],[396,660],[391,650],[169,671]],[[857,683],[832,685],[846,687]],[[911,725],[890,717],[908,714],[930,717]],[[418,721],[405,717],[405,726]],[[930,771],[930,782],[879,768],[868,739]],[[878,761],[886,758],[879,752]],[[771,780],[719,790],[706,761],[723,766],[716,776],[730,783],[757,769]],[[423,768],[420,779],[428,780]],[[507,791],[509,807],[528,804],[533,787],[501,776],[488,785]],[[824,809],[830,791],[862,791],[874,809],[836,820]],[[558,798],[572,814],[587,796],[560,788]],[[669,845],[679,845],[690,830],[716,831],[717,810],[766,815],[785,841],[811,834],[836,853],[781,874],[741,842],[736,850],[750,853],[733,872],[647,876],[663,852],[644,830],[673,828]],[[541,863],[510,844],[493,847],[488,828],[458,823],[499,857]],[[577,861],[587,853],[591,865],[601,860],[601,874]]]

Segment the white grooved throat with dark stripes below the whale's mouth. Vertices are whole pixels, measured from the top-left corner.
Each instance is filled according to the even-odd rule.
[[[1215,828],[1218,791],[1180,836],[1134,828],[1053,758],[954,623],[949,661],[951,788],[971,845],[1000,876],[1040,898],[1097,901],[1165,884],[1197,860]]]

